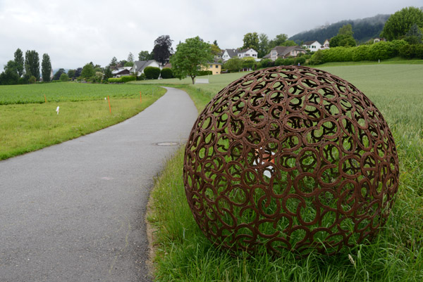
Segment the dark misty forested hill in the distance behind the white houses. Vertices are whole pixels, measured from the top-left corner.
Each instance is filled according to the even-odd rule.
[[[290,40],[293,40],[298,44],[300,44],[301,41],[317,40],[320,44],[323,44],[326,39],[331,39],[338,34],[340,27],[350,23],[353,26],[354,39],[362,43],[374,37],[379,37],[384,29],[386,20],[388,20],[390,16],[391,15],[375,15],[372,18],[363,18],[359,20],[342,20],[341,22],[333,23],[324,27],[318,27],[314,30],[300,32],[295,34],[293,37],[290,37]]]

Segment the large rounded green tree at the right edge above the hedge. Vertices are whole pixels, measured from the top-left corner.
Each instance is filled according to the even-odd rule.
[[[388,40],[403,39],[414,24],[423,27],[423,11],[415,7],[403,8],[386,20],[381,37]]]

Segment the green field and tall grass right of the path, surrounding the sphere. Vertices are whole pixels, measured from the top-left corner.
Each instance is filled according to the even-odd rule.
[[[231,257],[197,227],[182,180],[183,150],[168,161],[152,192],[156,281],[423,281],[423,65],[321,68],[355,84],[381,110],[400,160],[400,187],[387,224],[371,243],[328,257]],[[198,108],[244,74],[180,85]],[[215,78],[216,77],[216,78]]]

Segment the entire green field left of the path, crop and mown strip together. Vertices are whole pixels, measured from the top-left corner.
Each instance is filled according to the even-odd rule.
[[[158,86],[127,84],[69,82],[0,86],[0,160],[122,122],[140,113],[165,92]],[[104,100],[106,96],[110,97],[111,113],[108,101]]]

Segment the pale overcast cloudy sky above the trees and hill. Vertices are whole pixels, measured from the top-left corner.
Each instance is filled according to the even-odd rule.
[[[179,41],[200,36],[222,49],[243,45],[247,32],[292,36],[339,20],[391,14],[423,0],[0,0],[0,70],[20,48],[48,53],[54,69],[152,51],[168,34]],[[41,63],[41,62],[40,62]]]

